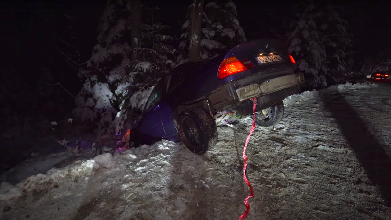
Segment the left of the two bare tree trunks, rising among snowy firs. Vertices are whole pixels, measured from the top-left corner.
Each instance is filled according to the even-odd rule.
[[[131,20],[131,48],[141,47],[141,42],[138,36],[140,35],[141,24],[141,0],[131,0],[130,9]],[[132,62],[141,60],[141,54],[132,53]]]

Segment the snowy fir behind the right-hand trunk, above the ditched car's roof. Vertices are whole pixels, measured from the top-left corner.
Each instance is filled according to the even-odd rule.
[[[237,20],[236,6],[231,0],[222,3],[205,2],[201,29],[200,58],[212,58],[224,50],[246,41],[244,31]],[[179,42],[177,62],[188,61],[190,41],[190,13],[193,4],[188,7],[187,20],[183,23]]]

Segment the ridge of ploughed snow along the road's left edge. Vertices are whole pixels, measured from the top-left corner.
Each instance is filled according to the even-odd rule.
[[[66,182],[68,180],[86,179],[91,175],[93,168],[121,170],[125,169],[126,163],[135,162],[134,171],[145,170],[145,165],[151,161],[167,159],[172,151],[181,149],[183,146],[171,141],[162,140],[155,144],[142,145],[131,148],[123,154],[104,153],[93,159],[80,159],[72,153],[57,153],[47,157],[33,157],[22,164],[7,171],[2,176],[0,185],[0,199],[8,199],[19,196],[20,192],[30,189],[32,185],[43,182]],[[53,168],[57,167],[57,168]],[[13,183],[19,182],[16,185]],[[27,185],[29,187],[26,187]]]

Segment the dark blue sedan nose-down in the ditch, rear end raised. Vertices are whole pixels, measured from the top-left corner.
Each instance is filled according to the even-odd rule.
[[[131,142],[183,141],[195,153],[217,142],[217,127],[253,114],[256,123],[273,126],[282,119],[285,97],[300,92],[302,73],[278,40],[241,43],[209,60],[184,63],[151,92]]]

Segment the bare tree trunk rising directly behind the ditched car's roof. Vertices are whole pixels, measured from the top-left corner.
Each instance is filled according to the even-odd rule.
[[[192,13],[190,16],[190,46],[189,46],[190,62],[199,60],[203,5],[204,5],[203,0],[194,0]]]

